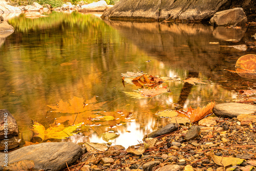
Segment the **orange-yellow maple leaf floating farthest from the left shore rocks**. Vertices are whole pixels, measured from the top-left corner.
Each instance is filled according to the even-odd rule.
[[[96,103],[96,97],[93,97],[90,100],[87,100],[84,102],[83,98],[79,98],[74,96],[72,99],[69,100],[69,102],[65,102],[63,100],[60,100],[58,102],[57,106],[48,105],[50,108],[52,108],[55,111],[52,112],[60,112],[60,113],[81,113],[87,110],[95,110],[98,109],[99,106],[101,106],[103,103],[99,103],[98,105],[95,105]],[[88,108],[88,106],[90,106]]]

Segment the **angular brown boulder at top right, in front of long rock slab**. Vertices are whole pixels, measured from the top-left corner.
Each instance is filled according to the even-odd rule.
[[[216,12],[210,23],[217,26],[245,26],[247,17],[243,8],[233,8]]]

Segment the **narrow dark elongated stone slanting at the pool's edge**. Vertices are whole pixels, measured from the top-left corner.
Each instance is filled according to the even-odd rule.
[[[178,126],[176,124],[173,124],[173,123],[170,123],[170,124],[167,124],[166,126],[162,127],[161,129],[159,130],[156,130],[156,131],[153,131],[152,133],[144,136],[143,140],[145,138],[155,138],[155,137],[159,137],[161,135],[164,135],[164,134],[168,134],[168,133],[171,133],[171,132],[174,132],[178,129]]]

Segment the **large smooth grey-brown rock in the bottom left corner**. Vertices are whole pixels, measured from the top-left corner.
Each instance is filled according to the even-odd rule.
[[[73,142],[47,142],[29,145],[8,153],[8,164],[32,160],[38,170],[57,171],[66,168],[80,158],[82,149]],[[0,154],[0,170],[3,170],[5,153]],[[6,167],[5,167],[6,168]],[[8,167],[7,167],[8,168]]]

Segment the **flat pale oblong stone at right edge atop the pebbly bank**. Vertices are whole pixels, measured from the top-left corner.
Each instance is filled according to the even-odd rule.
[[[243,103],[221,103],[215,105],[212,112],[218,117],[233,118],[241,114],[253,114],[256,111],[255,105]]]

